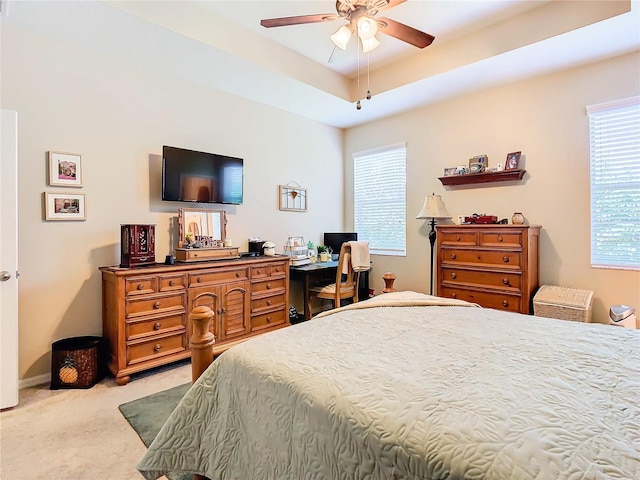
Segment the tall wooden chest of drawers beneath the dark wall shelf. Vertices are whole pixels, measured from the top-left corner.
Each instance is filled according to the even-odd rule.
[[[437,225],[437,294],[530,313],[538,288],[538,225]]]

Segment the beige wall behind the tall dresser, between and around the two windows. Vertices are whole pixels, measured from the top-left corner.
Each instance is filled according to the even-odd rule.
[[[640,93],[640,54],[444,101],[347,131],[345,218],[353,221],[350,153],[407,142],[407,257],[376,257],[402,290],[429,291],[428,222],[416,220],[424,196],[442,195],[449,213],[509,218],[523,212],[542,225],[540,283],[594,290],[593,321],[614,304],[640,310],[640,272],[590,267],[589,133],[585,107]],[[371,105],[374,107],[374,104]],[[489,166],[521,150],[527,173],[516,184],[443,187],[445,167],[487,154]],[[376,288],[381,288],[377,281]],[[435,292],[435,288],[434,288]]]

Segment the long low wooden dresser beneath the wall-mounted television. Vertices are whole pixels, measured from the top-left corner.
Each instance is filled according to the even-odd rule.
[[[289,325],[286,256],[100,271],[108,367],[120,385],[132,373],[190,357],[189,313],[197,306],[214,312],[215,355]]]

